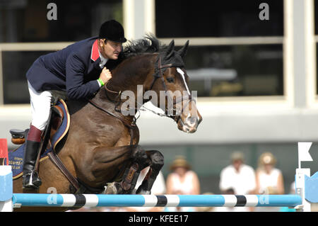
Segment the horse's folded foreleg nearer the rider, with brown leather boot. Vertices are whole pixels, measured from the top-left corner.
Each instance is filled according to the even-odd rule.
[[[140,147],[136,148],[131,156],[131,164],[124,171],[122,181],[114,182],[107,187],[106,193],[132,193],[140,171],[151,164],[145,150]]]

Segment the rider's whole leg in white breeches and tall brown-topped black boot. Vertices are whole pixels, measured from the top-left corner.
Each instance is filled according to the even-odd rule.
[[[41,179],[34,171],[37,153],[40,149],[41,134],[45,130],[49,118],[52,94],[49,91],[37,92],[28,82],[30,103],[32,111],[32,123],[25,142],[25,154],[23,159],[23,187],[38,188]]]

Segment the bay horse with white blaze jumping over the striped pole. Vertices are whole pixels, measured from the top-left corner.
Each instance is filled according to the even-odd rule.
[[[57,147],[57,155],[74,178],[87,188],[81,193],[132,193],[139,173],[150,166],[146,178],[136,193],[150,193],[153,182],[163,166],[163,154],[157,150],[144,150],[139,146],[139,129],[136,113],[142,103],[131,97],[131,114],[124,114],[123,107],[129,98],[124,91],[135,96],[142,93],[142,102],[151,101],[162,108],[167,117],[184,132],[195,132],[202,117],[189,93],[189,77],[182,58],[189,41],[175,50],[174,40],[163,45],[153,35],[131,41],[122,51],[118,64],[112,69],[112,79],[85,101],[66,101],[71,115],[69,132]],[[138,91],[138,85],[141,91]],[[146,98],[143,94],[158,94]],[[160,91],[180,91],[177,96],[165,96],[172,103],[159,106]],[[184,92],[185,91],[185,92]],[[167,101],[168,102],[168,101]],[[122,110],[120,110],[122,109]],[[171,114],[167,111],[172,110]],[[155,128],[153,128],[155,130]],[[71,182],[50,159],[40,162],[42,185],[38,191],[47,193],[54,188],[57,193],[78,193]],[[103,191],[107,186],[106,191]],[[13,193],[27,193],[22,188],[22,177],[13,181]],[[25,207],[15,211],[59,211],[69,208]]]

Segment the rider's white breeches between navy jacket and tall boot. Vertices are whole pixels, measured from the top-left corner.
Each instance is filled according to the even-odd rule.
[[[30,103],[32,112],[32,125],[39,130],[44,130],[49,119],[49,109],[51,108],[52,92],[37,92],[28,81]]]

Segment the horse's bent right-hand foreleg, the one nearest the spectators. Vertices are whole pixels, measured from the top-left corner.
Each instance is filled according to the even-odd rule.
[[[153,183],[155,182],[160,169],[163,167],[163,154],[155,150],[146,151],[146,154],[148,159],[151,160],[151,165],[145,179],[143,179],[143,183],[141,183],[141,186],[137,189],[136,194],[150,194]]]

